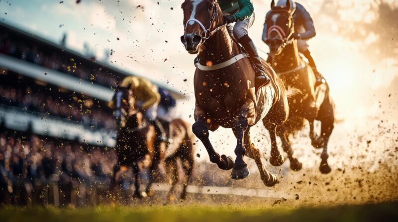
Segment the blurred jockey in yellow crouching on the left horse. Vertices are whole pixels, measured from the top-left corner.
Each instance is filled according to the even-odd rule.
[[[141,111],[143,117],[155,127],[157,139],[163,142],[169,142],[166,138],[162,124],[157,119],[157,110],[160,102],[160,95],[155,85],[144,78],[128,76],[123,79],[120,88],[131,90],[131,96],[134,98],[134,107]]]

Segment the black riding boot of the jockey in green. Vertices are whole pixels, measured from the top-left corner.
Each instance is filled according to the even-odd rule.
[[[244,35],[241,37],[238,42],[245,48],[246,52],[249,54],[250,58],[252,59],[254,65],[256,66],[256,79],[255,79],[255,86],[256,88],[260,88],[262,86],[268,85],[271,80],[265,74],[265,69],[263,64],[261,63],[261,58],[258,55],[256,46],[254,45],[253,41],[250,39],[248,35]]]

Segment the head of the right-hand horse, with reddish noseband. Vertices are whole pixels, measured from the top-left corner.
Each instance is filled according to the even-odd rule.
[[[268,28],[266,44],[269,46],[272,55],[279,55],[294,33],[292,16],[294,7],[292,4],[292,0],[286,0],[284,6],[280,3],[275,6],[274,0],[271,2],[271,11],[265,22]]]

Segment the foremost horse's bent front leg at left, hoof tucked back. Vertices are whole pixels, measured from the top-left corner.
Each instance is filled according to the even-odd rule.
[[[199,140],[203,143],[208,156],[210,158],[210,162],[217,164],[220,169],[229,170],[233,166],[233,160],[231,157],[227,157],[225,155],[219,155],[215,152],[213,146],[208,139],[209,131],[208,125],[206,123],[206,114],[205,112],[199,108],[198,106],[195,108],[195,117],[196,122],[192,125],[192,131],[199,138]]]

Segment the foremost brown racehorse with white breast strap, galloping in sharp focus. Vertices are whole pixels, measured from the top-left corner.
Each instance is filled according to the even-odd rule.
[[[269,86],[255,89],[255,73],[249,58],[225,28],[221,9],[215,0],[186,0],[185,32],[181,41],[190,54],[198,54],[200,63],[195,72],[194,134],[206,148],[210,162],[223,170],[232,168],[233,179],[243,179],[249,169],[243,160],[255,160],[266,186],[274,186],[277,177],[263,166],[261,155],[250,140],[250,127],[262,120],[271,135],[271,164],[280,166],[284,157],[276,143],[276,127],[288,117],[289,106],[283,82],[269,65]],[[209,130],[219,126],[232,128],[236,138],[236,160],[219,155],[209,141]],[[300,165],[295,159],[295,164]]]

